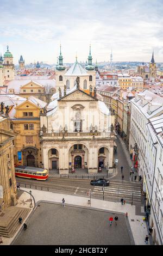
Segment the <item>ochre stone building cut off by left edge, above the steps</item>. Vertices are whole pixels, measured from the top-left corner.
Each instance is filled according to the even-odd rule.
[[[16,204],[14,138],[9,118],[0,117],[0,210]]]

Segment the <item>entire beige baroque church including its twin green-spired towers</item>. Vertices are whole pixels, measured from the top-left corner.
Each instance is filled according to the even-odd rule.
[[[56,93],[40,115],[42,165],[68,174],[75,168],[97,173],[112,170],[114,116],[96,93],[96,71],[91,47],[86,70],[76,62],[65,71],[60,49],[56,71]]]

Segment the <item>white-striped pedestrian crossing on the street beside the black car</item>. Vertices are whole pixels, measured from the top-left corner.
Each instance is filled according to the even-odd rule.
[[[141,184],[128,181],[110,181],[108,187],[95,186],[92,191],[92,196],[120,202],[121,198],[126,200],[126,203],[133,205],[141,205]]]

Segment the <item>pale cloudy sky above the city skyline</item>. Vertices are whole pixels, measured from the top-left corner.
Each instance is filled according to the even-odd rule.
[[[59,45],[64,62],[163,62],[162,0],[4,0],[0,5],[0,51],[14,63],[56,63]]]

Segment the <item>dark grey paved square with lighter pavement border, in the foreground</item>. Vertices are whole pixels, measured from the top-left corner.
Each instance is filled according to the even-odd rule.
[[[74,206],[40,203],[14,245],[131,245],[126,217],[110,227],[112,214]],[[115,215],[112,215],[115,216]]]

